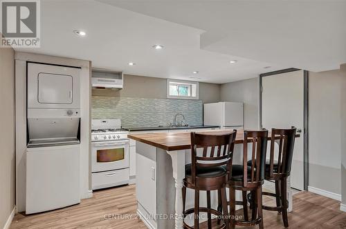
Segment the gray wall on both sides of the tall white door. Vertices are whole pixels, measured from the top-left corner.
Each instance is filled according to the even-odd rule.
[[[342,189],[346,204],[346,65],[343,69],[309,72],[309,186],[336,194]],[[258,128],[259,90],[258,77],[221,84],[221,101],[244,101],[245,128]]]

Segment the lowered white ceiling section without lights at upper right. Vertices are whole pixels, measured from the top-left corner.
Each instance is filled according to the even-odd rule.
[[[204,50],[316,72],[346,63],[343,0],[99,1],[204,30]]]

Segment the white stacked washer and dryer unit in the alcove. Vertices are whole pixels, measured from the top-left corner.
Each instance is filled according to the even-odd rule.
[[[28,63],[26,214],[80,203],[80,68]]]

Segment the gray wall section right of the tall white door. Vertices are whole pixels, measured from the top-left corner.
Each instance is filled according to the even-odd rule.
[[[341,194],[340,70],[309,72],[309,186]]]

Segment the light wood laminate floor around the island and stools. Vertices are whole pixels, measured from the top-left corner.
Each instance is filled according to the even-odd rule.
[[[135,188],[132,185],[100,190],[93,192],[92,198],[69,208],[28,216],[17,214],[10,228],[146,228],[136,217]],[[273,204],[274,201],[264,197],[264,203]],[[293,195],[289,228],[346,228],[346,212],[341,212],[339,206],[334,199],[299,192]],[[281,215],[264,210],[264,228],[284,228]]]

